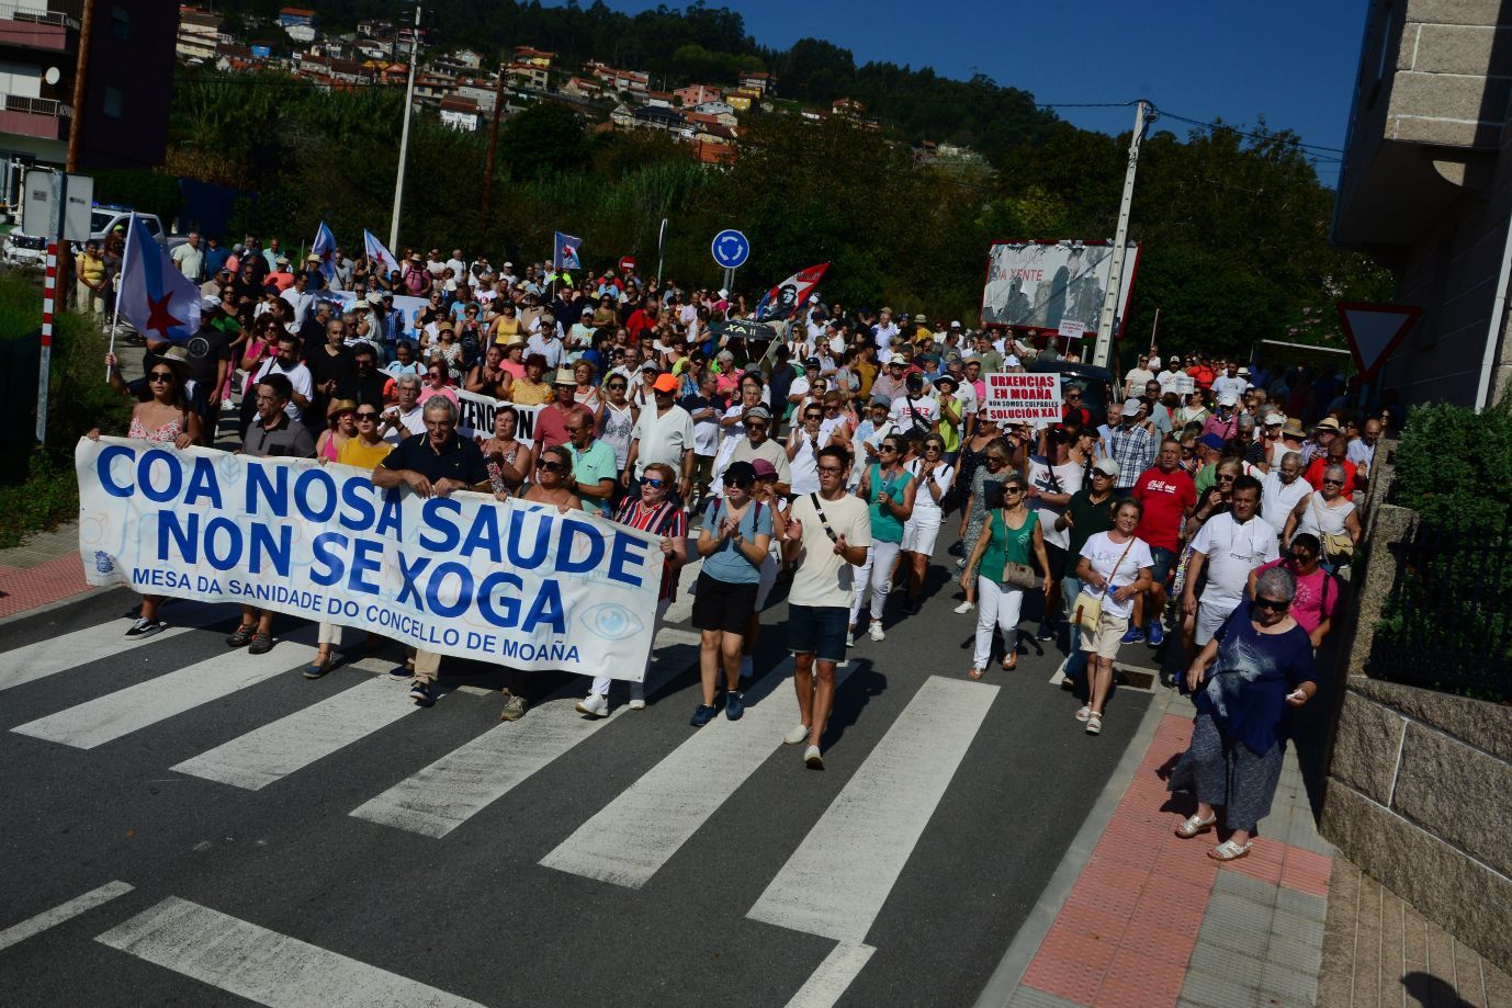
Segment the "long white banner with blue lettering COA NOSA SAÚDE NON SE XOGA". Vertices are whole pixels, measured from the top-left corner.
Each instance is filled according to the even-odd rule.
[[[513,668],[640,679],[662,553],[582,511],[422,499],[313,459],[82,438],[91,585],[237,601]]]

